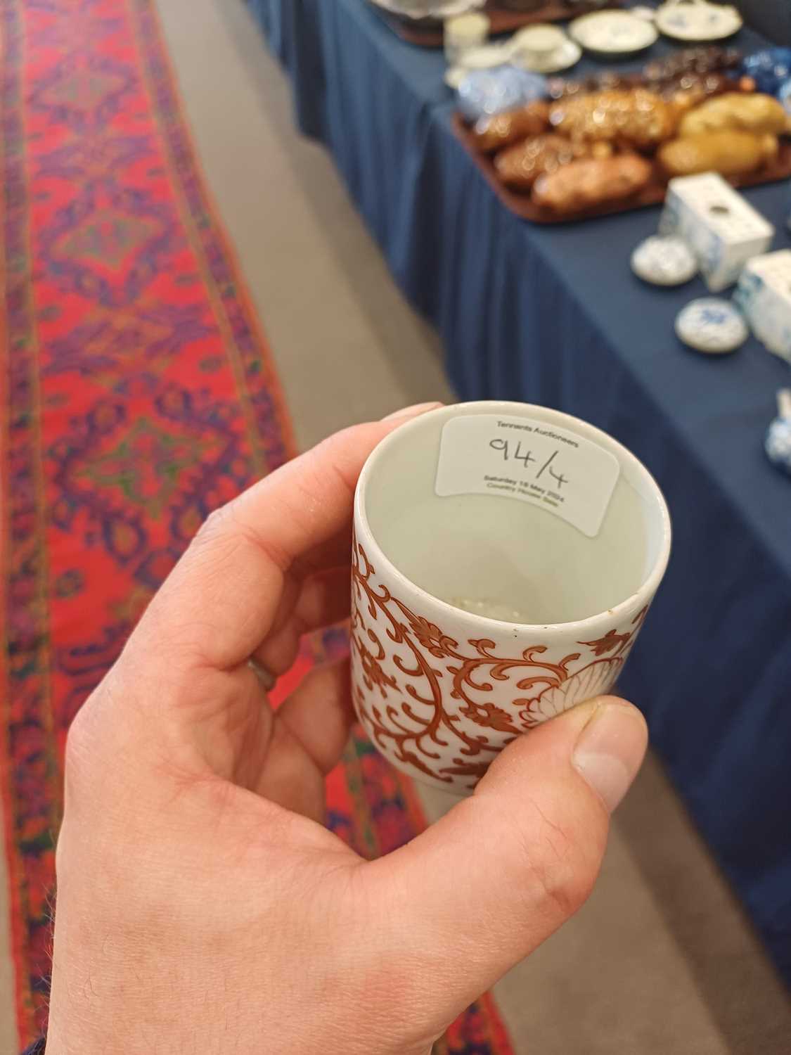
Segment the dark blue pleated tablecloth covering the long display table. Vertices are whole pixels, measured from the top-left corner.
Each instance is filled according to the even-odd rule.
[[[629,269],[658,209],[552,228],[510,214],[454,135],[441,54],[363,0],[251,3],[459,395],[578,415],[659,480],[675,548],[622,688],[791,981],[791,483],[761,449],[791,370],[756,342],[721,360],[677,342],[702,283],[658,290]],[[791,245],[789,186],[748,197]]]

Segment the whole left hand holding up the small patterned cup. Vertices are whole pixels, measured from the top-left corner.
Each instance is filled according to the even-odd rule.
[[[512,744],[476,793],[362,861],[322,827],[346,665],[273,714],[300,635],[348,615],[360,425],[211,516],[80,711],[47,1055],[425,1055],[585,900],[645,748],[631,705]]]

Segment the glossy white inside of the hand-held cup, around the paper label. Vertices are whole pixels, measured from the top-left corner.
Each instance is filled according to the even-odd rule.
[[[437,493],[445,423],[481,415],[562,427],[615,456],[620,472],[594,537],[549,509],[497,491]],[[655,580],[653,593],[670,552],[664,499],[634,455],[579,419],[522,403],[442,407],[392,433],[363,468],[356,516],[362,533],[420,590],[455,608],[520,625],[606,613]]]

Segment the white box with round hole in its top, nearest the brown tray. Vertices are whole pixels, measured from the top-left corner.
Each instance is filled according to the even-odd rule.
[[[691,246],[707,286],[718,293],[769,249],[774,228],[721,176],[706,172],[671,179],[659,233],[680,235]]]

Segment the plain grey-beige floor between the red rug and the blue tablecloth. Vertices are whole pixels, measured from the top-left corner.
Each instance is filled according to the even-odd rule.
[[[158,2],[298,442],[451,399],[436,335],[398,292],[328,156],[295,134],[242,0]],[[425,805],[436,817],[449,803],[432,792]],[[0,955],[0,1051],[12,1055],[6,965]],[[787,993],[652,757],[591,901],[497,996],[519,1055],[791,1052]]]

